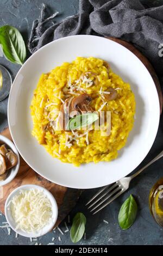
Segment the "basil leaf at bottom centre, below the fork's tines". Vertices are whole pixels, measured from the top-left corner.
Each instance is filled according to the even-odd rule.
[[[85,231],[86,217],[82,212],[78,212],[73,218],[72,227],[70,230],[70,237],[73,243],[77,243],[82,239]]]

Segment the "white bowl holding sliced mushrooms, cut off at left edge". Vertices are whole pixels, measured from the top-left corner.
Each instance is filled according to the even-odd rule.
[[[16,166],[12,167],[10,170],[8,170],[8,175],[5,180],[0,181],[0,187],[7,185],[11,180],[13,180],[18,172],[18,169],[20,167],[20,157],[18,154],[18,151],[14,145],[10,141],[10,139],[0,135],[0,144],[6,144],[8,148],[10,148],[16,155],[17,155],[17,164]]]

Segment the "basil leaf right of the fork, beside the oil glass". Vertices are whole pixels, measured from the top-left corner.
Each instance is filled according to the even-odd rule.
[[[134,223],[137,214],[137,204],[132,195],[122,204],[118,222],[120,227],[125,230],[131,227]]]

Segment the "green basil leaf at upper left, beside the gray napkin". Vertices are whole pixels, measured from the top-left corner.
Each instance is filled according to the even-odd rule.
[[[26,59],[26,46],[21,33],[12,26],[0,28],[0,44],[5,58],[16,64],[23,64]]]

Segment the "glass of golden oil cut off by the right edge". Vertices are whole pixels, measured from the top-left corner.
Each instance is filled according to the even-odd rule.
[[[149,194],[149,208],[155,221],[163,227],[163,178],[152,187]]]

